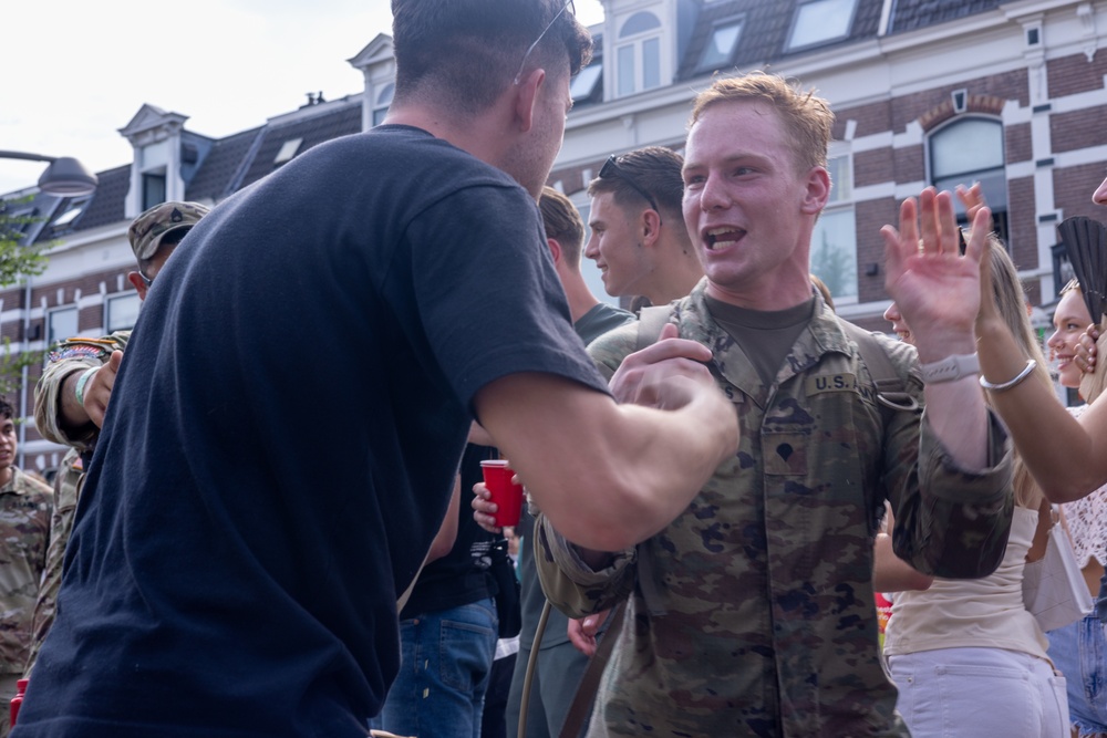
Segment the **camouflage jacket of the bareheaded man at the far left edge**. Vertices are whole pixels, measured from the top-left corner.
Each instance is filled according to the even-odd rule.
[[[0,673],[22,674],[46,565],[53,493],[15,467],[0,487]]]

